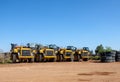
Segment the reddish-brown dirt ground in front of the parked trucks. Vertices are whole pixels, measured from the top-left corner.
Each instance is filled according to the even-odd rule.
[[[120,82],[120,63],[1,64],[0,82]]]

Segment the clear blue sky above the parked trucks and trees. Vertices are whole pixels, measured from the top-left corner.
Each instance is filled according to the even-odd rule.
[[[0,0],[0,49],[10,43],[120,49],[119,0]]]

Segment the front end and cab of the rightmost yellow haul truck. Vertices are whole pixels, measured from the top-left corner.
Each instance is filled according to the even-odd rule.
[[[81,57],[83,61],[88,61],[89,57],[90,57],[90,50],[88,47],[83,47],[83,49],[81,49]]]

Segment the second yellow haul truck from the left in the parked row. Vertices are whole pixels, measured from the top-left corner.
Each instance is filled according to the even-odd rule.
[[[36,53],[35,53],[35,61],[43,62],[43,61],[56,61],[56,54],[54,49],[50,49],[49,47],[40,48],[37,45]]]

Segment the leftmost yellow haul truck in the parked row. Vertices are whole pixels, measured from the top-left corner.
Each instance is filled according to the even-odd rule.
[[[34,62],[34,55],[31,48],[11,44],[11,60],[13,63],[22,61]]]

